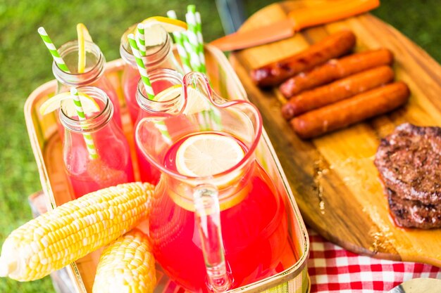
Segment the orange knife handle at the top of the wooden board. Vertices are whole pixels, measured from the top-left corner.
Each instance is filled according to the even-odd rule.
[[[342,20],[351,16],[365,13],[380,5],[380,0],[337,0],[326,1],[314,8],[300,8],[288,13],[294,20],[294,30],[323,25],[323,23]]]

